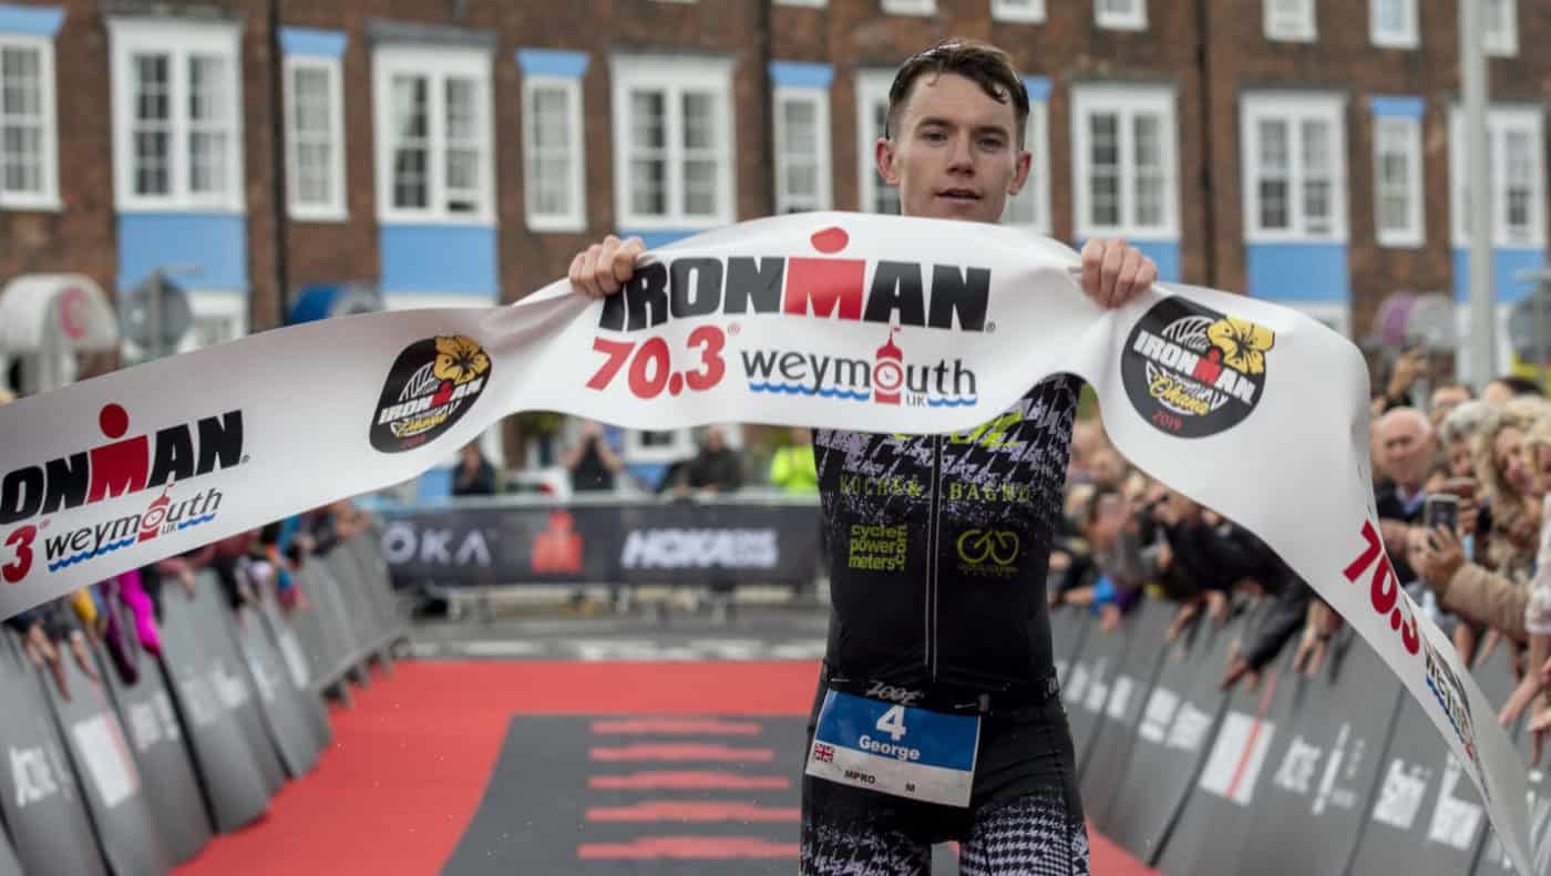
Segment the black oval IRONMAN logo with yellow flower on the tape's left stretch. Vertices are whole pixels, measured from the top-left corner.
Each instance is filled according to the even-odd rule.
[[[416,341],[394,360],[372,417],[372,447],[403,453],[467,414],[490,378],[490,355],[464,335]]]

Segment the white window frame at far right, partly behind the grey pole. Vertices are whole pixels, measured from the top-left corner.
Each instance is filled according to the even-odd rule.
[[[1546,167],[1545,167],[1545,121],[1539,105],[1489,107],[1486,113],[1487,169],[1492,188],[1492,247],[1542,248],[1546,243]],[[1531,143],[1529,226],[1522,237],[1511,236],[1503,222],[1508,211],[1508,133],[1518,132]],[[1464,110],[1449,110],[1449,214],[1450,237],[1456,248],[1470,245],[1466,223],[1466,161],[1464,161]]]

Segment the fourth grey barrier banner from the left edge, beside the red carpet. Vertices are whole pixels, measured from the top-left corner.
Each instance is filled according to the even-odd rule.
[[[217,595],[206,589],[199,598],[214,602]],[[237,715],[217,693],[211,657],[183,586],[163,586],[161,667],[194,752],[214,828],[225,834],[262,816],[270,794]]]

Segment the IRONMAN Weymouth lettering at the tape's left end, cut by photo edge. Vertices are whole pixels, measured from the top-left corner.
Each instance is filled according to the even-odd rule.
[[[152,487],[171,487],[174,482],[181,484],[247,462],[242,454],[240,409],[166,426],[155,434],[124,437],[129,433],[129,412],[121,405],[110,403],[98,411],[98,428],[104,437],[112,439],[109,443],[8,471],[0,479],[0,526]],[[47,524],[47,519],[28,522],[0,533],[0,546],[5,546],[0,550],[0,578],[14,585],[31,572],[34,543]],[[90,529],[95,532],[98,527]],[[140,522],[132,529],[138,530]],[[79,532],[68,533],[65,541],[76,544]],[[124,538],[123,530],[113,536],[116,541]]]

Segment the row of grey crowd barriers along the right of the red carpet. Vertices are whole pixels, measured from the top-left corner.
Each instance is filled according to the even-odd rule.
[[[1052,617],[1086,816],[1098,833],[1166,876],[1512,873],[1470,780],[1349,628],[1314,678],[1292,670],[1289,643],[1255,690],[1241,682],[1224,693],[1230,643],[1247,639],[1258,614],[1222,628],[1197,620],[1168,643],[1171,616],[1166,603],[1145,603],[1107,633],[1072,608]],[[1512,687],[1508,651],[1477,657],[1491,702]],[[1551,789],[1528,763],[1522,724],[1511,735],[1539,843]],[[1551,848],[1540,853],[1537,874],[1551,874]]]

